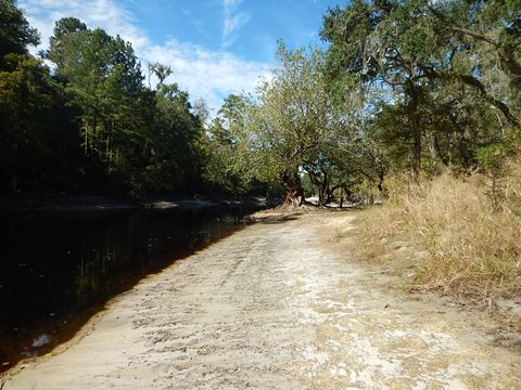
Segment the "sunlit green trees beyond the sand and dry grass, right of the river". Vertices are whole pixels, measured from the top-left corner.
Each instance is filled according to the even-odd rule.
[[[310,183],[325,205],[385,196],[392,172],[499,176],[517,153],[519,0],[353,0],[320,35],[325,51],[281,43],[272,78],[214,121],[241,178],[294,204]]]

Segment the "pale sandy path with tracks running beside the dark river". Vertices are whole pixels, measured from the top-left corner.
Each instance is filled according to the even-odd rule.
[[[521,389],[521,355],[479,314],[404,297],[331,249],[345,216],[255,224],[175,263],[4,390]]]

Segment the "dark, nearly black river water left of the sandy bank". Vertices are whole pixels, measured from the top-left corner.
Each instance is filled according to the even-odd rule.
[[[109,298],[237,231],[252,211],[0,213],[0,372],[69,339]]]

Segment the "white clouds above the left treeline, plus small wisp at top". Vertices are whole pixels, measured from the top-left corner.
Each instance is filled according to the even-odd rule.
[[[228,41],[245,23],[241,20],[244,16],[233,11],[241,2],[225,0],[225,8],[232,10]],[[22,0],[18,4],[25,10],[31,26],[41,34],[42,44],[34,49],[34,53],[48,47],[55,21],[75,16],[90,28],[101,27],[113,36],[119,35],[130,41],[143,63],[143,74],[147,73],[147,63],[169,65],[173,74],[168,81],[178,82],[180,88],[190,93],[192,101],[203,98],[214,110],[220,106],[224,96],[253,91],[258,79],[270,73],[268,64],[245,61],[226,51],[214,52],[176,39],[154,43],[145,31],[136,26],[134,16],[113,0]]]

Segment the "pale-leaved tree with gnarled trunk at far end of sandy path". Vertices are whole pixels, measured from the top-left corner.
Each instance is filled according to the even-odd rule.
[[[255,169],[264,180],[279,180],[285,203],[301,205],[301,174],[321,159],[320,146],[339,117],[326,91],[320,50],[289,51],[280,43],[280,67],[258,88],[249,140],[256,152]],[[315,172],[325,178],[325,171]]]

